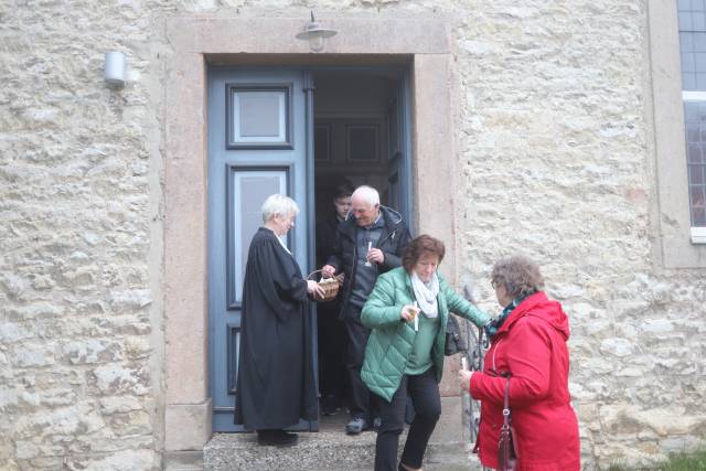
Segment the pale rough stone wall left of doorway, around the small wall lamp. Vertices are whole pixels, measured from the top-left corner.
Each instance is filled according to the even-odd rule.
[[[160,465],[159,81],[138,3],[0,3],[0,469]],[[124,50],[143,79],[103,81]]]

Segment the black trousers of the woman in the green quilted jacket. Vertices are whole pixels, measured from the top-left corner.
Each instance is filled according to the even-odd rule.
[[[434,367],[420,375],[404,375],[393,400],[379,399],[383,422],[375,442],[375,471],[397,470],[397,446],[405,425],[407,398],[411,399],[416,415],[399,461],[410,468],[421,468],[429,437],[441,416],[441,397]]]

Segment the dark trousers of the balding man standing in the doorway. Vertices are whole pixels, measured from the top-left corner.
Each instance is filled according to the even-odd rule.
[[[361,308],[349,307],[344,318],[345,324],[345,371],[349,378],[349,399],[351,418],[362,417],[372,421],[375,415],[377,397],[370,392],[361,379],[361,368],[365,360],[365,346],[371,336],[371,330],[361,323]],[[371,397],[373,396],[373,397]]]

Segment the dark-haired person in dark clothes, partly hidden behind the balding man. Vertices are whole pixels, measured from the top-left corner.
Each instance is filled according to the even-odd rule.
[[[327,263],[335,244],[335,231],[351,211],[353,185],[343,181],[335,186],[333,208],[327,218],[317,224],[317,266]],[[318,304],[319,330],[319,390],[321,393],[321,414],[335,414],[345,394],[345,371],[343,363],[345,331],[339,319],[340,298]]]

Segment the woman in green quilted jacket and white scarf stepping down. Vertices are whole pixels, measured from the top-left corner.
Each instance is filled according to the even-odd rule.
[[[443,243],[428,235],[414,239],[403,266],[377,278],[361,321],[372,329],[361,377],[382,398],[375,443],[375,470],[419,470],[427,442],[441,415],[439,381],[449,312],[483,325],[489,317],[437,274]],[[399,464],[397,446],[407,397],[416,416]]]

